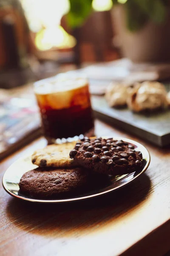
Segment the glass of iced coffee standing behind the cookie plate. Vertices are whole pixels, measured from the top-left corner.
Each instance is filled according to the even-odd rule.
[[[48,143],[73,141],[93,136],[88,80],[60,74],[34,84],[42,128]]]

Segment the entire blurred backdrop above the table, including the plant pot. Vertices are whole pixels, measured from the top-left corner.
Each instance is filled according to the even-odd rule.
[[[0,87],[63,64],[168,62],[169,10],[168,0],[0,0]]]

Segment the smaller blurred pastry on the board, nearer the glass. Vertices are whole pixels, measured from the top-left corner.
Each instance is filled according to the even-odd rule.
[[[105,99],[110,107],[123,107],[126,105],[128,88],[125,83],[111,83],[105,93]]]

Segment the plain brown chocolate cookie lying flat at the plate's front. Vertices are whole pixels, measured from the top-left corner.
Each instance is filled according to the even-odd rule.
[[[88,180],[83,168],[37,168],[26,172],[20,179],[20,192],[35,198],[61,198],[81,192]]]

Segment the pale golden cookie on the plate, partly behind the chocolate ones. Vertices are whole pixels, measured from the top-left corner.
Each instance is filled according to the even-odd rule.
[[[48,145],[45,148],[38,149],[32,155],[32,163],[40,167],[74,167],[73,159],[70,159],[69,153],[76,142],[65,144]]]

